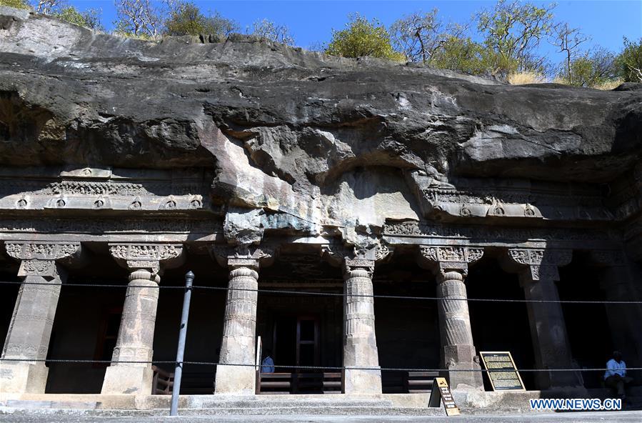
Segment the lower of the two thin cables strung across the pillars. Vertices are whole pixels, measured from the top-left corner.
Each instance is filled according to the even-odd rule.
[[[7,359],[0,358],[0,362],[48,362],[48,363],[81,363],[81,364],[111,364],[111,360],[79,360],[79,359]],[[170,360],[152,361],[118,361],[116,364],[176,364]],[[244,363],[219,363],[219,362],[189,362],[182,364],[193,364],[202,366],[234,366],[234,367],[261,367],[256,364]],[[292,366],[275,364],[274,367],[281,369],[306,369],[306,370],[381,370],[386,372],[506,372],[506,369],[417,369],[408,367],[345,367],[345,366]],[[518,372],[606,372],[606,367],[593,367],[590,369],[518,369]],[[642,367],[628,367],[627,372],[642,370]]]

